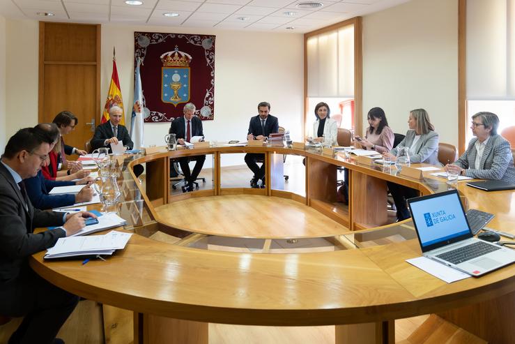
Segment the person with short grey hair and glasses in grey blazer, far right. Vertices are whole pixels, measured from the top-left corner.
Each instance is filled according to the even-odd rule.
[[[468,149],[446,171],[477,179],[496,179],[515,183],[515,167],[509,142],[498,135],[499,118],[492,112],[477,112],[470,128],[475,138]]]

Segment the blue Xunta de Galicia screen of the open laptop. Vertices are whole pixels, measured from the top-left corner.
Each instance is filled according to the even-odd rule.
[[[456,190],[408,200],[422,252],[472,237]]]

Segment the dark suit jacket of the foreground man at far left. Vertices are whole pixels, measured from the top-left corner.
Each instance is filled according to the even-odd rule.
[[[27,257],[54,246],[65,237],[62,229],[33,234],[35,227],[63,224],[63,214],[34,209],[26,204],[13,176],[0,163],[0,285],[16,278],[29,267]]]

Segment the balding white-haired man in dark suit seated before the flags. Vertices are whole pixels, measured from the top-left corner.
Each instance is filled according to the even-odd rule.
[[[92,149],[107,147],[111,152],[111,144],[118,144],[118,141],[122,141],[123,145],[129,147],[129,149],[134,147],[127,128],[120,124],[122,114],[123,110],[119,106],[115,105],[109,109],[109,121],[100,124],[95,129],[91,139]]]

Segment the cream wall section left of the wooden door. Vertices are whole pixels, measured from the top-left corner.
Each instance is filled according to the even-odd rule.
[[[6,20],[6,137],[38,124],[38,22]]]

